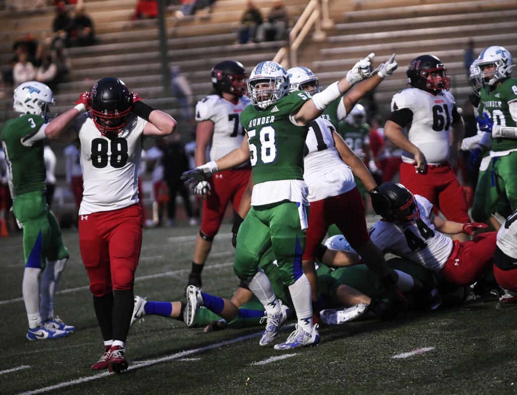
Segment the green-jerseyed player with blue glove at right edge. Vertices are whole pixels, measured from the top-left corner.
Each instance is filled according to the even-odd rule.
[[[486,207],[506,193],[512,210],[517,209],[517,79],[511,78],[512,55],[503,47],[485,48],[477,66],[485,85],[481,88],[479,128],[492,134],[490,156],[492,183],[499,195],[487,194]]]

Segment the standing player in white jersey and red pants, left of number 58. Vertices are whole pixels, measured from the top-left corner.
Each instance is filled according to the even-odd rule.
[[[240,113],[250,104],[250,99],[244,96],[247,77],[244,66],[235,60],[224,60],[212,68],[213,93],[199,101],[195,108],[196,166],[222,158],[242,144],[245,131],[240,125]],[[207,158],[209,145],[210,158]],[[226,206],[232,201],[235,211],[239,209],[250,175],[251,165],[248,161],[234,169],[219,172],[194,187],[195,194],[205,199],[203,221],[196,237],[187,285],[201,287],[201,271],[221,226]]]

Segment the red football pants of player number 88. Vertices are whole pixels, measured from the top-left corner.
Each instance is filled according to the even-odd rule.
[[[141,221],[138,204],[79,216],[79,248],[94,296],[133,288],[142,247]]]

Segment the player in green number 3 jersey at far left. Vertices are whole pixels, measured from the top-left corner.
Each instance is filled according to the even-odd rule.
[[[54,315],[57,284],[69,254],[45,197],[43,140],[49,117],[56,115],[49,112],[51,104],[54,98],[47,85],[24,82],[14,90],[13,108],[20,116],[6,121],[0,130],[13,211],[23,226],[22,290],[29,340],[60,338],[75,330]]]

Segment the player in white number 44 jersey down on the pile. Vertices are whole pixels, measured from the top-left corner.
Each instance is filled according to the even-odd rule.
[[[490,270],[496,232],[481,233],[465,242],[442,234],[473,235],[486,224],[437,217],[429,200],[413,195],[401,184],[384,183],[379,189],[390,200],[389,210],[370,230],[372,241],[381,251],[416,262],[454,285],[472,284]]]

